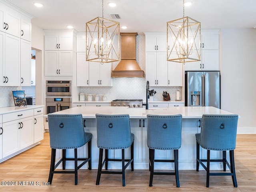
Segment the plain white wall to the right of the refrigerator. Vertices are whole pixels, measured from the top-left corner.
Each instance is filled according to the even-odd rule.
[[[238,133],[256,133],[256,30],[221,29],[221,108],[241,116]]]

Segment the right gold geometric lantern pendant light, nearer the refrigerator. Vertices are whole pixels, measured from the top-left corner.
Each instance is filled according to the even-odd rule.
[[[167,22],[167,60],[173,62],[200,61],[201,23],[184,16]]]

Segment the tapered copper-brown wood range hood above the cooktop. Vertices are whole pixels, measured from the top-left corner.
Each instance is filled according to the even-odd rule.
[[[144,71],[136,62],[136,36],[138,33],[120,33],[121,61],[112,71],[111,77],[144,77]]]

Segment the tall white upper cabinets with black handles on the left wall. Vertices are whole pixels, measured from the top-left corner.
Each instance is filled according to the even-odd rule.
[[[31,18],[8,2],[0,2],[0,42],[0,86],[30,86]]]

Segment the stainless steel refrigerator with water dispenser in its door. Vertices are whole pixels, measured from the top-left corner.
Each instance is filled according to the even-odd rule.
[[[220,108],[220,72],[186,71],[185,106]]]

